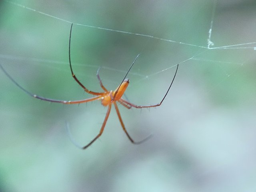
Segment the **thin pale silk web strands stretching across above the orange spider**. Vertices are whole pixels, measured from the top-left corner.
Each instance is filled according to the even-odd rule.
[[[29,11],[32,11],[32,12],[36,12],[38,14],[42,14],[44,16],[47,16],[47,17],[50,17],[50,18],[54,18],[54,19],[60,20],[62,22],[66,22],[66,23],[69,23],[69,24],[72,23],[69,20],[65,20],[65,19],[56,17],[54,15],[47,14],[45,12],[42,12],[42,11],[30,8],[28,6],[24,6],[22,4],[19,4],[19,3],[16,3],[16,2],[12,2],[10,0],[4,0],[4,1],[9,3],[9,4],[12,4],[14,6],[18,6],[20,8],[24,8],[26,10],[29,10]],[[210,51],[210,50],[226,50],[226,49],[230,49],[230,50],[231,49],[238,49],[238,50],[252,49],[252,50],[256,50],[256,42],[247,42],[247,43],[241,43],[241,44],[224,45],[224,46],[212,47],[214,45],[214,43],[212,42],[212,32],[213,32],[213,28],[214,28],[214,18],[215,18],[215,14],[216,14],[216,6],[217,6],[217,0],[213,0],[212,15],[211,15],[211,20],[210,20],[210,29],[208,31],[207,46],[199,46],[199,45],[195,45],[195,44],[189,44],[189,43],[186,43],[186,42],[179,42],[179,41],[170,40],[170,39],[166,39],[166,38],[159,38],[159,37],[148,35],[148,34],[140,34],[140,33],[134,33],[134,32],[127,32],[127,31],[123,31],[123,30],[115,30],[115,29],[110,29],[110,28],[103,28],[103,27],[100,27],[100,26],[92,26],[92,25],[86,25],[86,24],[81,24],[81,23],[74,23],[74,25],[84,26],[84,27],[89,27],[89,28],[95,28],[95,29],[99,29],[99,30],[106,30],[106,31],[111,31],[111,32],[117,32],[117,33],[123,33],[123,34],[129,34],[129,35],[135,35],[135,36],[142,36],[142,37],[146,37],[148,39],[156,39],[156,40],[160,40],[160,41],[171,42],[171,43],[175,43],[175,44],[181,44],[181,45],[184,45],[184,46],[190,46],[190,47],[193,47],[193,48],[198,48],[199,50],[203,50],[202,52]],[[143,49],[142,49],[142,51],[143,51]],[[36,61],[36,62],[66,64],[66,62],[46,60],[46,59],[38,59],[38,58],[25,58],[25,57],[23,58],[23,57],[15,57],[15,56],[8,56],[8,55],[0,55],[0,57],[1,58],[10,58],[12,60],[31,60],[31,61]],[[175,67],[177,64],[182,64],[182,63],[188,62],[189,60],[204,60],[204,61],[208,61],[208,62],[215,61],[215,62],[227,63],[225,61],[220,61],[220,60],[217,61],[217,60],[210,60],[210,59],[204,59],[204,58],[196,58],[196,56],[194,55],[194,56],[192,56],[192,57],[190,57],[188,59],[185,59],[185,60],[183,60],[183,61],[181,61],[179,63],[174,63],[174,64],[172,64],[172,66],[169,66],[167,68],[164,68],[164,69],[156,71],[156,72],[153,72],[152,74],[142,75],[140,73],[133,73],[133,72],[131,72],[130,74],[139,76],[140,80],[143,80],[143,79],[147,79],[147,78],[149,78],[151,76],[158,75],[158,74],[160,74],[160,73],[162,73],[162,72],[164,72],[166,70],[170,70],[171,68]],[[234,62],[232,62],[232,63],[234,63]],[[79,65],[79,64],[74,64],[74,65]],[[84,66],[84,64],[81,64],[81,65]],[[97,67],[98,68],[98,66],[90,65],[90,64],[86,64],[86,66],[94,67],[94,68]],[[49,67],[53,67],[53,66],[49,65]],[[105,68],[105,69],[108,69],[108,70],[114,70],[116,72],[123,72],[123,73],[126,72],[124,70],[118,70],[118,69],[109,68],[109,67],[106,67],[106,66],[102,66],[102,68]]]

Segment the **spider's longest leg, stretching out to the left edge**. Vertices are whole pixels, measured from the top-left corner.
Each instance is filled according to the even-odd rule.
[[[78,104],[78,103],[85,103],[85,102],[89,102],[89,101],[94,101],[97,100],[99,98],[101,98],[101,96],[96,96],[96,97],[92,97],[92,98],[88,98],[88,99],[84,99],[84,100],[76,100],[76,101],[64,101],[64,100],[55,100],[55,99],[49,99],[49,98],[44,98],[41,96],[37,96],[36,94],[32,94],[29,91],[27,91],[26,89],[24,89],[20,84],[18,84],[7,72],[6,70],[3,68],[3,66],[0,64],[0,68],[2,69],[2,71],[6,74],[6,76],[14,83],[16,84],[16,86],[18,86],[21,90],[23,90],[26,94],[40,99],[40,100],[44,100],[44,101],[49,101],[49,102],[56,102],[56,103],[63,103],[63,104]]]

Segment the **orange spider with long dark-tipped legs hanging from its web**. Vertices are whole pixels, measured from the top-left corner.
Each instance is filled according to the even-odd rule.
[[[11,76],[10,74],[8,74],[8,72],[6,72],[6,70],[2,67],[2,65],[0,64],[0,68],[2,69],[2,71],[6,74],[6,76],[8,78],[10,78],[10,80],[16,84],[16,86],[18,86],[20,89],[22,89],[24,92],[26,92],[28,95],[34,97],[34,98],[37,98],[37,99],[40,99],[40,100],[44,100],[44,101],[48,101],[48,102],[56,102],[56,103],[62,103],[62,104],[80,104],[80,103],[86,103],[86,102],[90,102],[90,101],[94,101],[94,100],[101,100],[101,104],[105,107],[108,107],[108,110],[106,112],[106,116],[104,118],[104,122],[102,123],[102,126],[100,128],[100,132],[85,146],[82,147],[82,149],[86,149],[88,148],[92,143],[94,143],[102,134],[103,130],[104,130],[104,127],[106,126],[106,122],[108,120],[108,116],[110,114],[110,110],[111,110],[111,107],[112,107],[112,104],[114,104],[114,107],[116,109],[116,113],[117,113],[117,116],[118,116],[118,119],[120,121],[120,124],[125,132],[125,134],[127,135],[128,139],[133,143],[133,144],[140,144],[142,142],[144,142],[145,140],[147,140],[149,137],[147,137],[146,139],[144,140],[141,140],[139,142],[135,142],[131,137],[130,135],[128,134],[128,132],[126,131],[126,128],[124,126],[124,122],[121,118],[121,115],[120,115],[120,112],[119,112],[119,109],[118,109],[118,106],[116,104],[116,102],[120,103],[122,106],[130,109],[132,107],[134,108],[152,108],[152,107],[158,107],[162,104],[162,102],[164,101],[164,99],[166,98],[166,95],[168,94],[171,86],[172,86],[172,83],[175,79],[175,76],[176,76],[176,73],[178,71],[178,64],[177,64],[177,68],[176,68],[176,71],[175,71],[175,74],[174,74],[174,77],[172,78],[172,82],[170,84],[170,86],[168,87],[168,90],[167,92],[165,93],[164,97],[162,98],[162,100],[158,103],[158,104],[155,104],[155,105],[148,105],[148,106],[140,106],[140,105],[135,105],[135,104],[132,104],[126,100],[124,100],[122,98],[128,84],[129,84],[129,79],[126,78],[128,72],[130,71],[130,69],[132,68],[132,66],[134,65],[136,59],[138,58],[138,56],[135,58],[134,62],[132,63],[132,65],[130,66],[129,70],[126,72],[126,75],[124,76],[124,79],[122,80],[121,84],[118,86],[118,88],[116,88],[116,90],[107,90],[104,85],[102,84],[102,80],[100,79],[100,76],[99,76],[99,70],[100,68],[97,70],[97,78],[98,78],[98,81],[100,83],[100,87],[104,90],[103,92],[93,92],[93,91],[90,91],[88,90],[77,78],[76,78],[76,75],[74,74],[73,72],[73,69],[72,69],[72,65],[71,65],[71,58],[70,58],[70,42],[71,42],[71,33],[72,33],[72,26],[73,24],[71,24],[71,28],[70,28],[70,34],[69,34],[69,47],[68,47],[68,58],[69,58],[69,66],[70,66],[70,71],[71,71],[71,74],[72,74],[72,77],[74,78],[74,80],[84,89],[85,92],[87,92],[88,94],[92,94],[94,95],[94,97],[92,98],[87,98],[87,99],[83,99],[83,100],[74,100],[74,101],[66,101],[66,100],[55,100],[55,99],[50,99],[50,98],[44,98],[44,97],[41,97],[41,96],[38,96],[36,94],[32,94],[31,92],[27,91],[26,89],[24,89],[22,86],[20,86],[20,84],[18,84]]]

